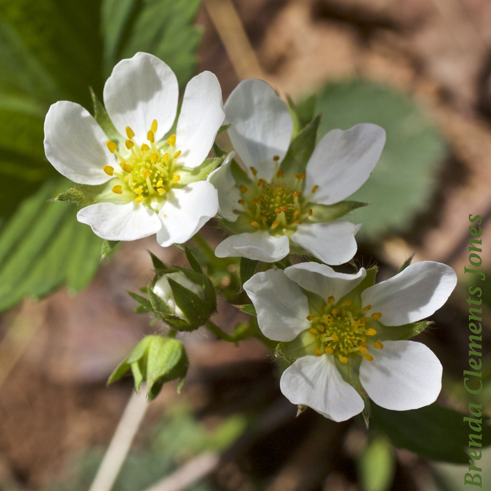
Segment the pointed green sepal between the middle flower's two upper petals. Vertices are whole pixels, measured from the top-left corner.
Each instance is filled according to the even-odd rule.
[[[292,187],[295,185],[295,174],[305,171],[307,162],[314,151],[320,120],[320,116],[316,116],[299,132],[290,143],[288,152],[281,162],[280,168],[283,171],[284,179]]]

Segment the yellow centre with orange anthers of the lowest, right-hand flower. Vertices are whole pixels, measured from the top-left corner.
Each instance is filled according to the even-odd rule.
[[[348,363],[348,357],[352,355],[373,361],[366,346],[371,344],[374,348],[382,349],[383,344],[375,340],[377,331],[370,324],[371,321],[378,321],[382,314],[375,312],[370,317],[365,317],[369,315],[370,308],[371,305],[367,305],[362,309],[355,309],[351,306],[351,300],[334,305],[334,297],[329,297],[323,312],[307,316],[307,320],[312,322],[309,332],[317,341],[315,354],[333,354],[342,363]]]

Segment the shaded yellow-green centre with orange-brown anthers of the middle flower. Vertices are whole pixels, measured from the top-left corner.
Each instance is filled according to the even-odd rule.
[[[257,170],[254,167],[250,169],[256,176]],[[296,174],[295,186],[291,189],[284,182],[283,171],[279,169],[272,183],[257,179],[253,189],[240,186],[244,197],[239,199],[238,203],[251,219],[253,227],[266,229],[271,233],[291,235],[297,225],[312,216],[312,209],[308,204],[313,193],[319,188],[314,186],[308,196],[303,196],[299,190],[304,179],[305,172]]]

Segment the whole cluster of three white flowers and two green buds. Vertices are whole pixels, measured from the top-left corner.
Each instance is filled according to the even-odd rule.
[[[260,80],[240,82],[223,106],[216,76],[203,72],[186,86],[175,121],[178,97],[172,70],[137,53],[114,67],[95,117],[72,102],[54,104],[45,121],[46,156],[81,185],[60,199],[83,204],[78,220],[104,239],[157,234],[164,247],[185,243],[218,215],[229,236],[216,256],[249,260],[241,267],[264,263],[243,285],[254,307],[248,313],[257,313],[257,333],[279,342],[276,354],[288,365],[280,387],[292,403],[343,421],[369,399],[393,410],[434,402],[441,365],[409,338],[447,300],[455,272],[423,261],[375,284],[376,268],[346,274],[327,266],[356,253],[361,224],[340,218],[363,205],[346,198],[379,161],[384,130],[358,124],[317,142],[320,117],[294,130],[294,108]],[[215,142],[220,128],[234,149],[228,155]],[[215,158],[208,157],[212,148]],[[192,271],[152,256],[148,299],[131,294],[139,311],[167,324],[169,336],[144,338],[110,378],[131,370],[152,398],[165,381],[184,381],[188,358],[177,331],[206,326],[234,342],[249,332],[231,336],[211,322],[214,286],[185,250]],[[292,266],[293,254],[325,264]]]

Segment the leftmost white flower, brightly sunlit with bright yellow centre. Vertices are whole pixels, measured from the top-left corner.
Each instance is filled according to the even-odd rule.
[[[153,55],[137,53],[120,61],[104,86],[119,145],[78,104],[60,101],[48,111],[44,146],[51,164],[76,183],[106,183],[96,203],[77,215],[98,236],[131,241],[156,233],[161,246],[170,246],[187,241],[215,216],[217,192],[196,169],[225,116],[217,77],[203,72],[191,79],[176,134],[163,139],[178,97],[172,70]]]

